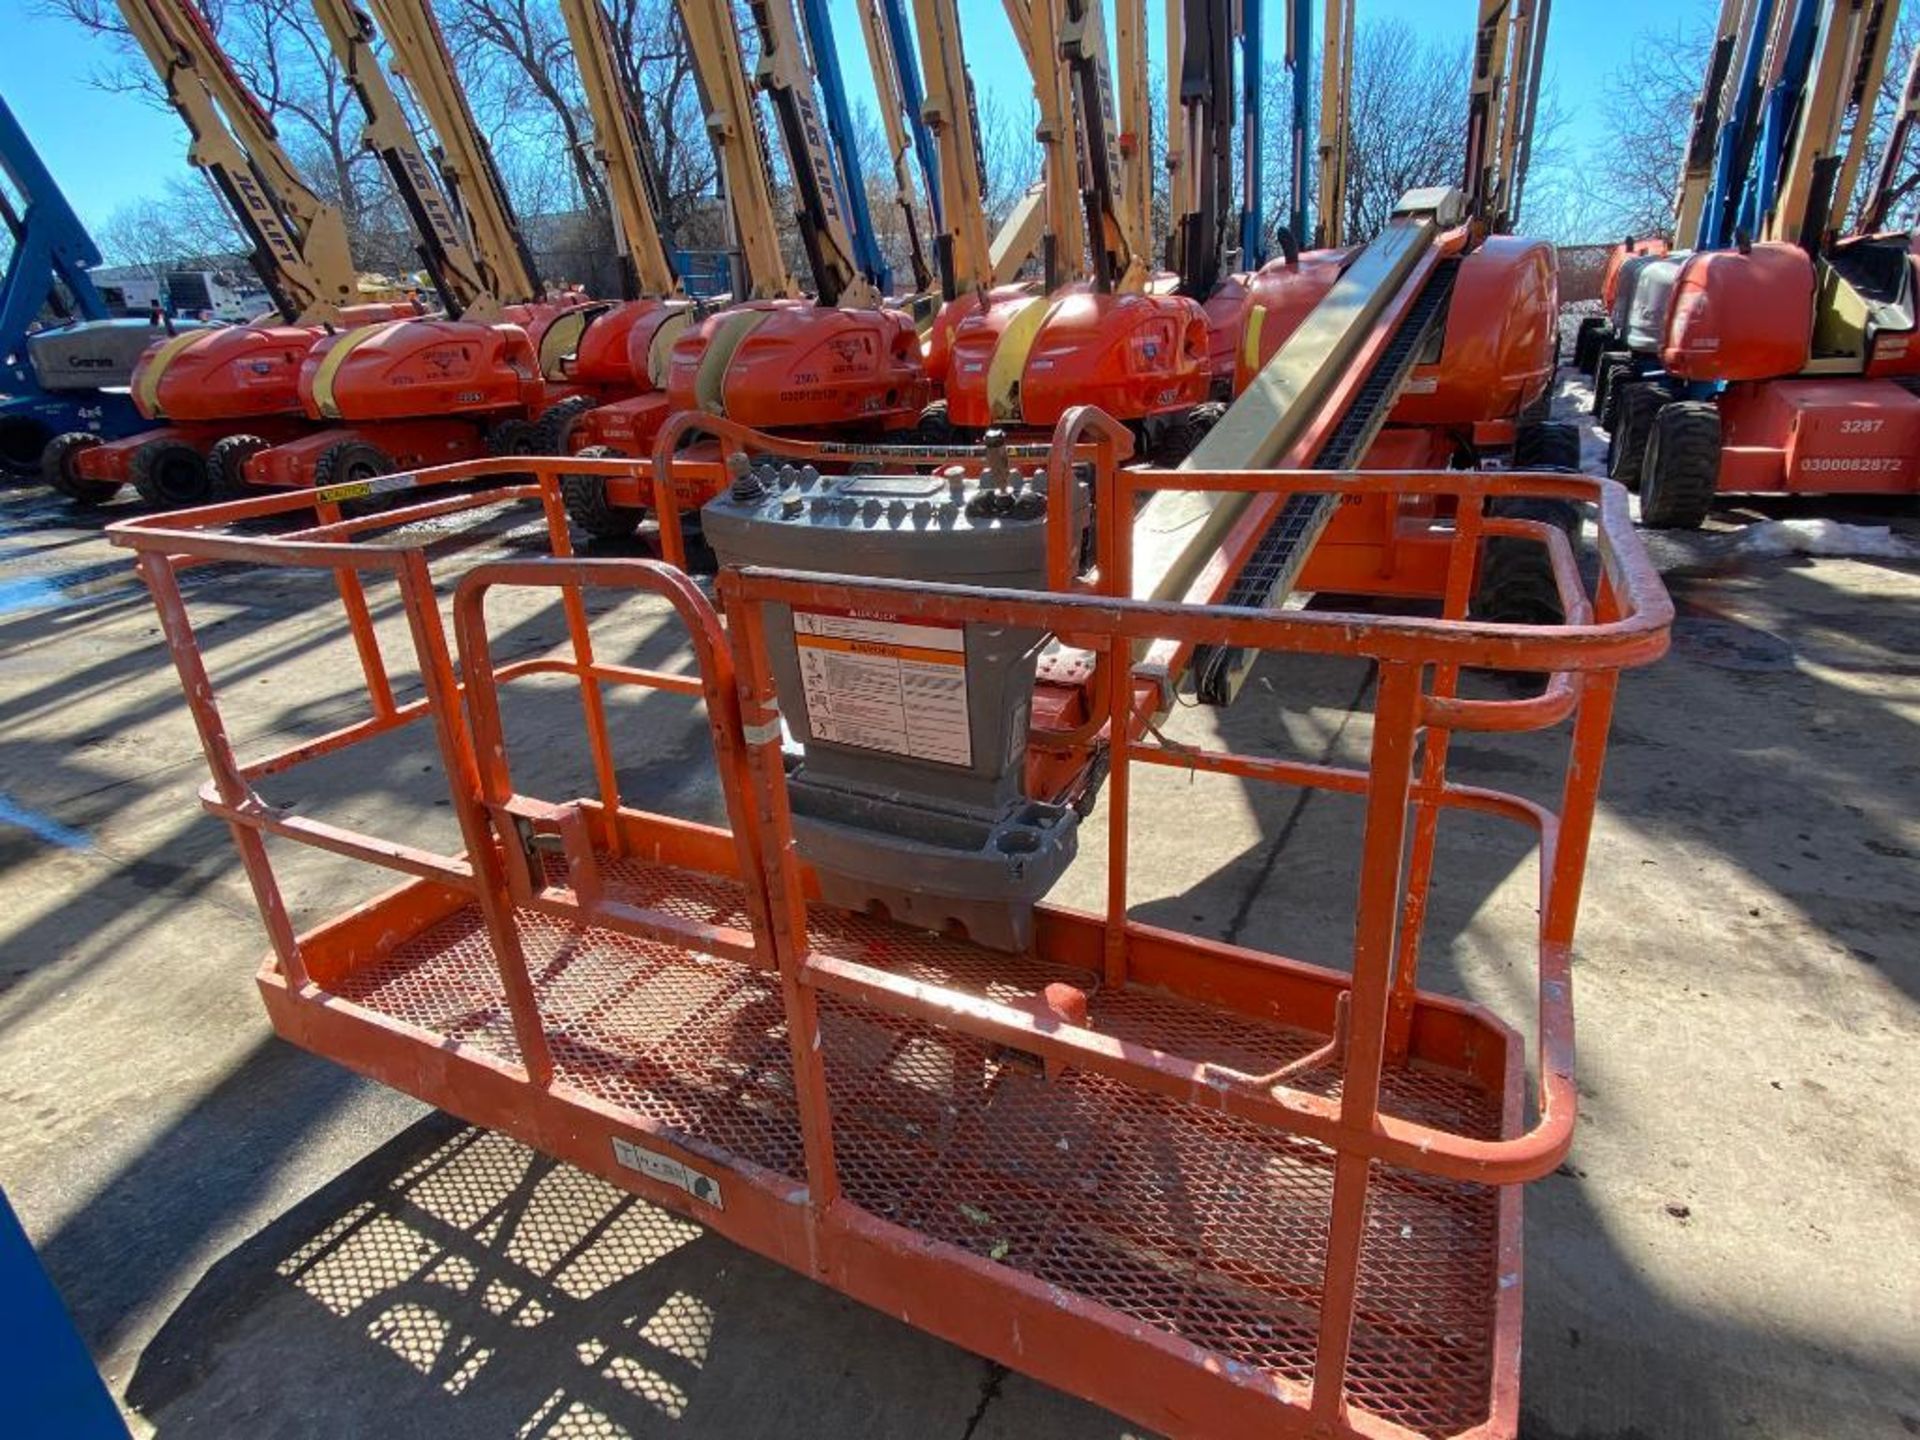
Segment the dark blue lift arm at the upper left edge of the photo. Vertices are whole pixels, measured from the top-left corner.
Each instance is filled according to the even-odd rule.
[[[108,319],[108,307],[88,275],[100,263],[100,250],[6,100],[0,100],[0,167],[6,169],[21,202],[15,211],[0,194],[6,225],[13,232],[13,253],[8,259],[6,278],[0,280],[0,361],[4,361],[19,351],[27,326],[42,307],[52,305],[65,315],[71,301],[71,311],[83,321]]]

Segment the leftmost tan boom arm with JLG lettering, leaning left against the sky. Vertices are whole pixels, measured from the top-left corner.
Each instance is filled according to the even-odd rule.
[[[192,0],[119,0],[127,29],[192,136],[186,159],[221,192],[253,269],[290,321],[324,321],[357,294],[340,211],[300,179],[253,92]]]

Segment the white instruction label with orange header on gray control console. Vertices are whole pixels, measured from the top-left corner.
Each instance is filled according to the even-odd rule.
[[[916,760],[973,764],[964,626],[795,611],[793,639],[814,735]]]

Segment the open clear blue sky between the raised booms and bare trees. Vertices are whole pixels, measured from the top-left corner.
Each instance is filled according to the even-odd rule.
[[[1319,12],[1317,0],[1308,0]],[[1265,0],[1267,29],[1279,52],[1281,0]],[[1642,31],[1670,35],[1676,25],[1709,17],[1713,0],[1559,0],[1548,35],[1548,86],[1569,117],[1572,150],[1594,136],[1592,100],[1599,83],[1626,58]],[[1027,100],[1025,69],[1014,52],[1000,0],[960,0],[968,60],[975,84],[1008,106]],[[1146,6],[1150,46],[1164,54],[1164,6]],[[843,65],[854,94],[872,96],[866,52],[851,0],[833,0]],[[1361,23],[1405,19],[1421,31],[1465,40],[1473,33],[1471,0],[1359,0]],[[154,194],[171,175],[186,171],[186,131],[165,111],[132,96],[104,94],[86,84],[106,56],[73,25],[36,13],[31,0],[0,0],[0,94],[67,188],[84,219],[100,223],[119,205]],[[1465,98],[1461,98],[1465,106]]]

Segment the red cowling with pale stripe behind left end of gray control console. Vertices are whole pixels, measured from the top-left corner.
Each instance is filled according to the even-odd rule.
[[[902,311],[756,300],[674,342],[666,394],[756,430],[902,428],[931,397],[920,332]]]

